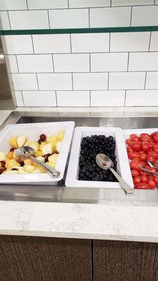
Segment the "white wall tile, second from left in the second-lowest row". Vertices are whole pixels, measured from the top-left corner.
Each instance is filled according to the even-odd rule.
[[[72,90],[71,73],[37,74],[40,90]]]

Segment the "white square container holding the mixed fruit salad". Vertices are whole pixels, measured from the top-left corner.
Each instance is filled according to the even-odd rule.
[[[41,133],[46,136],[56,135],[60,129],[65,130],[65,136],[62,141],[61,150],[58,156],[55,169],[60,171],[59,178],[51,178],[48,174],[1,174],[0,183],[11,184],[33,184],[33,185],[58,185],[58,181],[62,180],[65,172],[70,143],[74,131],[74,122],[47,122],[32,124],[13,124],[7,125],[0,132],[0,150],[5,154],[11,149],[8,143],[12,136],[25,135],[32,141],[38,141]]]

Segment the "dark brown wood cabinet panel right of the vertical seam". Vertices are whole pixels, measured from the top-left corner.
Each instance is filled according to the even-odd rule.
[[[157,281],[158,244],[93,241],[94,281]]]

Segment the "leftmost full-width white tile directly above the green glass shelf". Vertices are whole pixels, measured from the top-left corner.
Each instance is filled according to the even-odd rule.
[[[47,11],[10,11],[9,18],[12,30],[47,29]]]

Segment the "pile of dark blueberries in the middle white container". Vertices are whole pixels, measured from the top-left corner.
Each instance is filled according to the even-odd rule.
[[[113,169],[117,171],[114,138],[103,135],[86,136],[81,142],[79,181],[117,181],[110,170],[103,170],[96,164],[98,153],[110,157],[114,163]]]

